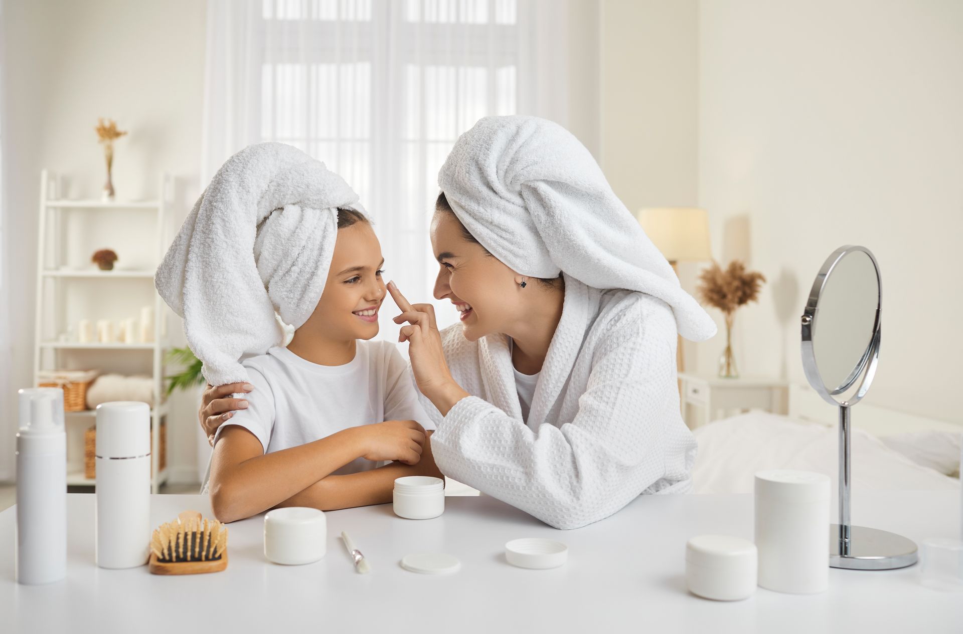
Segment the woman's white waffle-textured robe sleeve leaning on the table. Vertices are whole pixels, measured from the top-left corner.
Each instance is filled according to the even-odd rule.
[[[535,429],[479,396],[458,401],[431,439],[439,468],[561,529],[643,493],[688,491],[695,444],[679,416],[675,320],[660,305],[625,311],[587,339],[579,355],[590,356],[572,369],[558,416]],[[485,373],[478,357],[452,357],[455,378]]]

